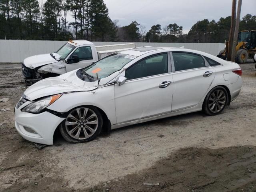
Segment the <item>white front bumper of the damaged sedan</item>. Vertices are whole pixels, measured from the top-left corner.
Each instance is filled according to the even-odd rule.
[[[53,135],[58,125],[65,119],[49,112],[32,114],[15,108],[15,128],[26,140],[52,145]]]

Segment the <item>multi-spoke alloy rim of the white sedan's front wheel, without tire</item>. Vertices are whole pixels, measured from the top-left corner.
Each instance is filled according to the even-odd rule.
[[[65,127],[72,138],[78,140],[87,139],[98,128],[98,116],[89,108],[76,108],[68,114]]]

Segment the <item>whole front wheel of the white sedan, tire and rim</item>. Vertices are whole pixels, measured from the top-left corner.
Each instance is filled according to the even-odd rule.
[[[87,142],[100,134],[102,124],[102,115],[96,107],[78,107],[71,110],[66,120],[60,124],[60,133],[68,142]]]

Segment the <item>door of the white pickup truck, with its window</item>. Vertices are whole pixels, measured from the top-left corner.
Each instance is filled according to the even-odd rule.
[[[74,63],[72,60],[73,56],[78,56],[79,62]],[[91,65],[94,61],[95,59],[92,57],[92,49],[90,46],[79,47],[68,58],[66,70],[70,72],[75,69],[84,68]]]

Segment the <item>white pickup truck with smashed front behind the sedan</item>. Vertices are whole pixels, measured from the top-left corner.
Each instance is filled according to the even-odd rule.
[[[26,84],[84,68],[114,52],[134,48],[133,43],[94,46],[86,40],[69,41],[54,53],[30,56],[22,62]]]

